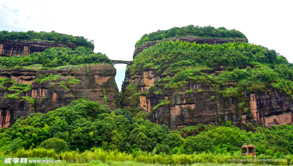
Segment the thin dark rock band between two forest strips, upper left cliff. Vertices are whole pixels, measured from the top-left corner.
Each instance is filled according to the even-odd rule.
[[[71,44],[72,47],[77,45]],[[53,47],[69,47],[66,43],[55,43],[42,40],[4,40],[0,43],[0,56],[28,56]]]

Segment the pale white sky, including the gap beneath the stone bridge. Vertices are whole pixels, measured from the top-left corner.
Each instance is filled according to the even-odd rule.
[[[0,31],[34,30],[84,36],[94,52],[113,60],[132,60],[145,33],[198,25],[241,31],[249,43],[263,45],[293,62],[290,1],[31,1],[0,0]],[[119,91],[125,64],[116,64]]]

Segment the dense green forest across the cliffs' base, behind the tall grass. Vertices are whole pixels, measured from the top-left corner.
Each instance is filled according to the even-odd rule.
[[[171,158],[172,155],[194,157],[202,153],[211,157],[239,155],[240,147],[249,144],[255,145],[256,155],[261,157],[282,158],[293,153],[292,125],[272,126],[271,129],[257,127],[253,133],[231,126],[231,121],[227,121],[220,127],[199,124],[170,131],[168,126],[132,117],[126,109],[112,112],[106,105],[87,99],[72,101],[45,115],[33,113],[28,118],[18,119],[10,128],[0,129],[0,139],[2,155],[48,153],[34,150],[43,148],[53,149],[57,154],[72,150],[81,153],[98,149],[109,153],[116,151],[112,157],[119,151],[136,157],[147,155],[142,152],[161,157],[170,155]]]

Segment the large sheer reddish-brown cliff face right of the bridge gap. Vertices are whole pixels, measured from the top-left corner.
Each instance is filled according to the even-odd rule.
[[[215,66],[208,74],[217,77],[224,70],[225,66]],[[176,89],[166,90],[162,82],[156,84],[162,79],[163,72],[144,70],[131,74],[126,71],[121,105],[130,110],[145,111],[147,119],[168,125],[173,130],[199,123],[222,125],[228,120],[246,130],[250,125],[270,127],[293,123],[290,97],[275,89],[266,87],[263,93],[243,89],[235,96],[225,97],[220,92],[236,89],[237,82],[226,82],[226,86],[222,86],[215,82],[187,81]],[[164,89],[162,93],[156,93],[161,89]]]

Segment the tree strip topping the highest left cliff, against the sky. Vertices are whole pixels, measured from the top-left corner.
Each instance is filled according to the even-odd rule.
[[[60,43],[73,43],[78,46],[88,47],[94,50],[94,41],[89,41],[88,38],[84,38],[83,36],[72,36],[63,33],[57,33],[55,31],[52,32],[8,32],[8,31],[0,31],[0,41],[3,40],[48,40]]]

